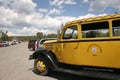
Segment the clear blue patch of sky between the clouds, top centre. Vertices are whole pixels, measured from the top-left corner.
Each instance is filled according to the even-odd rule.
[[[103,13],[107,13],[107,14],[113,14],[114,12],[117,11],[117,8],[114,8],[114,7],[111,7],[110,5],[107,6],[106,8],[102,8],[102,10],[93,10],[93,11],[90,11],[90,4],[91,2],[94,2],[95,0],[69,0],[69,1],[73,1],[75,3],[71,3],[71,4],[61,4],[61,5],[57,5],[57,2],[56,4],[53,4],[53,5],[50,5],[50,2],[54,2],[54,1],[57,1],[57,0],[33,0],[33,2],[35,2],[37,4],[37,7],[36,9],[39,9],[39,8],[44,8],[44,9],[48,9],[48,10],[51,10],[53,8],[55,9],[58,9],[61,11],[61,14],[59,15],[51,15],[51,16],[73,16],[73,17],[79,17],[79,16],[84,16],[85,14],[103,14]],[[59,2],[60,0],[58,0]],[[64,1],[64,0],[63,0]],[[67,1],[67,0],[66,0]],[[104,0],[102,0],[104,1]],[[109,0],[108,0],[109,1]],[[60,6],[62,6],[62,8],[59,8]],[[101,5],[102,6],[102,5]],[[100,6],[100,7],[101,7]],[[96,7],[96,6],[94,6]]]

